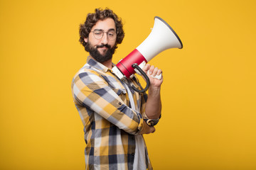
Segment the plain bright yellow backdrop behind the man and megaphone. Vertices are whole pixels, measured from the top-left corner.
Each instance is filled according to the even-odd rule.
[[[183,49],[162,52],[162,118],[146,135],[154,169],[256,169],[256,1],[0,1],[0,169],[84,169],[71,79],[85,64],[78,26],[105,6],[124,21],[114,62],[154,16]]]

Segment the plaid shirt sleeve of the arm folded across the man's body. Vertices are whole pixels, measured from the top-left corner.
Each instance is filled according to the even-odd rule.
[[[130,134],[142,130],[142,115],[129,108],[97,72],[81,72],[74,77],[72,88],[76,104],[90,108]]]

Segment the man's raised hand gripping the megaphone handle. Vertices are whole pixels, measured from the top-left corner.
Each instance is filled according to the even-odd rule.
[[[153,65],[150,65],[150,64],[146,64],[143,69],[142,69],[146,74],[147,76],[149,77],[149,80],[150,80],[150,86],[151,87],[160,87],[161,84],[163,83],[163,73],[161,71],[161,69],[158,69],[157,67],[154,67]],[[149,70],[149,74],[147,73]],[[156,75],[160,75],[162,74],[161,76],[161,79],[156,79],[154,78]],[[151,77],[153,76],[153,77]]]

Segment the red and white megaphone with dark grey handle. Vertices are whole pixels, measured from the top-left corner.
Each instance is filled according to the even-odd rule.
[[[149,36],[136,49],[134,49],[127,57],[120,60],[116,66],[112,68],[112,72],[119,78],[132,78],[134,74],[142,74],[146,79],[146,87],[139,90],[132,86],[137,92],[144,92],[149,88],[149,77],[146,76],[142,68],[153,59],[156,55],[169,48],[181,49],[183,44],[175,31],[162,18],[154,17],[154,27]]]

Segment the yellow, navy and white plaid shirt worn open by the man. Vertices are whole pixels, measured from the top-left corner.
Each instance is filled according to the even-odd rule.
[[[137,79],[129,80],[139,87]],[[135,137],[142,130],[147,95],[130,86],[138,111],[133,111],[123,86],[111,69],[88,57],[75,74],[72,92],[85,132],[86,169],[133,169]],[[152,169],[147,154],[146,166]]]

